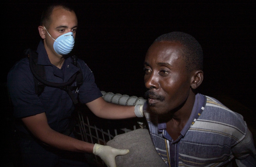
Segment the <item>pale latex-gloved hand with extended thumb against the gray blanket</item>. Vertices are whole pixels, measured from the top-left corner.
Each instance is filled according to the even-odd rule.
[[[127,149],[116,149],[110,146],[103,146],[95,143],[93,147],[93,154],[99,156],[108,167],[116,167],[115,157],[118,155],[128,154]]]

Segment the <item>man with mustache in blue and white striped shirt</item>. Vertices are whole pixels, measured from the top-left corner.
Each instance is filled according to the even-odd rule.
[[[144,114],[158,155],[167,166],[255,166],[243,117],[197,92],[202,68],[202,48],[189,34],[163,34],[148,49]]]

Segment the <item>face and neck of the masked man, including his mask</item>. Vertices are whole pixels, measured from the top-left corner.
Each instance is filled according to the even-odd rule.
[[[47,12],[44,12],[45,15],[42,15],[41,25],[38,26],[38,31],[44,41],[44,46],[48,53],[50,61],[53,59],[59,60],[59,62],[51,63],[58,68],[61,68],[65,60],[62,55],[68,54],[73,49],[78,24],[76,13],[74,11],[67,12],[67,10],[62,9],[67,13],[65,16],[63,16],[63,13],[60,13],[58,11],[55,14],[54,10],[52,11],[51,22],[49,22],[47,19],[43,19],[44,17],[48,17]],[[72,36],[65,37],[65,34]],[[57,38],[60,39],[57,40]],[[66,43],[62,43],[63,46],[60,46],[61,40],[68,41]],[[68,47],[66,51],[64,49],[61,49],[65,47],[65,45],[67,45]]]

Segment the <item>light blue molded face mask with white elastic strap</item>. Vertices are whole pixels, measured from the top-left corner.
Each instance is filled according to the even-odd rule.
[[[46,30],[46,28],[45,28],[45,30]],[[48,33],[48,31],[47,31],[47,33]],[[51,35],[50,35],[50,37],[51,37]],[[59,36],[57,39],[54,39],[54,38],[52,38],[52,39],[55,40],[54,44],[53,44],[53,48],[54,48],[55,52],[58,54],[61,54],[61,55],[70,53],[75,44],[75,39],[74,39],[72,32],[63,34],[63,35]]]

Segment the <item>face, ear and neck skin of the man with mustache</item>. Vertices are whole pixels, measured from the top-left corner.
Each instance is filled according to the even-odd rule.
[[[167,132],[176,140],[187,123],[195,102],[195,89],[203,72],[186,72],[179,42],[154,43],[145,57],[144,82],[149,89],[148,110],[165,122]],[[161,97],[161,98],[160,98]]]

